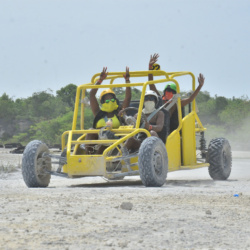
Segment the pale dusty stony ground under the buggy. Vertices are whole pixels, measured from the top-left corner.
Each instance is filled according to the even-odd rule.
[[[228,181],[202,168],[171,172],[162,188],[52,177],[29,189],[20,169],[1,173],[0,249],[250,249],[250,153],[233,156]],[[1,150],[0,165],[21,157]]]

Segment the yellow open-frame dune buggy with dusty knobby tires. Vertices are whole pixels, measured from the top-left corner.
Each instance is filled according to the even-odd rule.
[[[140,176],[143,185],[151,187],[162,186],[166,182],[167,173],[182,169],[208,167],[210,176],[215,180],[225,180],[229,177],[232,165],[231,148],[224,138],[213,139],[206,147],[204,131],[206,130],[197,113],[195,101],[189,112],[184,114],[181,109],[180,86],[177,81],[181,76],[190,76],[192,89],[195,90],[195,77],[191,72],[135,71],[130,72],[130,78],[145,78],[148,74],[157,76],[157,80],[138,83],[119,83],[124,72],[111,72],[105,79],[107,84],[95,85],[99,77],[95,74],[90,83],[77,88],[72,130],[62,134],[62,154],[52,154],[47,145],[41,141],[31,141],[25,148],[22,159],[22,175],[28,187],[47,187],[51,175],[67,178],[87,176],[102,176],[109,180],[121,180],[125,176]],[[114,83],[114,81],[118,83]],[[152,137],[143,127],[145,116],[142,113],[144,95],[150,84],[174,82],[177,94],[171,105],[177,105],[178,127],[169,131],[167,113],[169,106],[160,106],[157,111],[164,110],[166,114],[165,128],[168,136],[165,140]],[[84,114],[87,104],[85,93],[92,88],[107,89],[120,87],[140,87],[140,100],[131,102],[126,110],[126,124],[118,129],[111,129],[113,138],[101,136],[108,128],[89,129],[84,126]],[[159,85],[158,85],[159,86]],[[79,115],[80,113],[80,115]],[[133,123],[131,115],[138,113]],[[131,122],[132,120],[132,122]],[[97,140],[86,140],[87,133],[99,135]],[[124,150],[124,143],[130,137],[143,134],[145,136],[137,152]],[[198,140],[199,139],[199,140]],[[84,145],[100,147],[105,145],[102,154],[86,154]],[[52,170],[52,164],[57,169]]]

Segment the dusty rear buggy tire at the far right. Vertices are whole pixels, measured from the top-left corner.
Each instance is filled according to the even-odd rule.
[[[226,180],[232,168],[232,152],[228,140],[216,138],[210,141],[207,153],[209,175],[214,180]]]

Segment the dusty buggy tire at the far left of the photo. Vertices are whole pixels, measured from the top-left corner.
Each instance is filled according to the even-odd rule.
[[[22,175],[28,187],[47,187],[51,175],[51,159],[42,157],[43,153],[49,153],[48,146],[38,140],[31,141],[25,148],[22,159]]]

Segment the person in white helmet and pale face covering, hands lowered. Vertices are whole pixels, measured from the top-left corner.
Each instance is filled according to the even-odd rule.
[[[156,110],[155,107],[157,102],[157,94],[152,90],[148,90],[145,93],[144,108],[142,110],[147,118]],[[137,114],[135,114],[135,118],[137,118]],[[164,113],[160,110],[150,119],[150,121],[145,122],[145,129],[150,132],[151,136],[159,137],[164,141],[164,133],[166,133],[164,129]],[[140,145],[145,138],[146,137],[142,136],[140,133],[136,137],[129,138],[124,146],[128,150],[136,151],[140,148]]]

